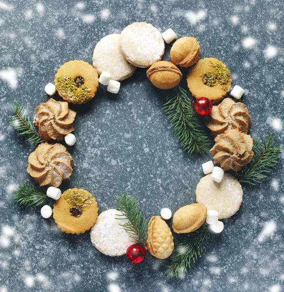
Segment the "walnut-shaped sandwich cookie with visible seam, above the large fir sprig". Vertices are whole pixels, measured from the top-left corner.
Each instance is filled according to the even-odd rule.
[[[147,77],[154,86],[160,89],[171,89],[180,82],[182,73],[173,63],[159,61],[147,70]]]

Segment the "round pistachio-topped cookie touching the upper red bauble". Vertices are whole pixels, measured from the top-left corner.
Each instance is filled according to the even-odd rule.
[[[215,58],[201,59],[189,70],[187,85],[194,97],[207,97],[216,103],[230,90],[231,73]]]

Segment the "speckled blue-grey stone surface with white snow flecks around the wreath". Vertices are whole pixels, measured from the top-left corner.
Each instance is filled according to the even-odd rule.
[[[26,166],[35,146],[5,120],[15,100],[32,119],[60,65],[72,59],[91,63],[102,37],[146,21],[161,32],[172,28],[178,37],[196,37],[201,57],[224,61],[232,85],[246,89],[252,137],[273,132],[282,142],[283,10],[282,0],[0,1],[0,292],[284,291],[283,157],[262,184],[243,186],[244,202],[224,220],[224,232],[212,235],[183,280],[171,281],[163,275],[166,261],[148,254],[132,265],[124,256],[104,256],[92,247],[89,232],[66,235],[39,208],[15,203],[15,186],[32,182]],[[75,165],[62,190],[89,190],[99,212],[113,208],[119,192],[133,192],[146,220],[162,207],[175,212],[194,202],[201,164],[211,156],[189,158],[180,149],[162,110],[167,93],[138,69],[119,94],[102,86],[87,105],[72,106],[78,112],[77,142],[69,147]]]

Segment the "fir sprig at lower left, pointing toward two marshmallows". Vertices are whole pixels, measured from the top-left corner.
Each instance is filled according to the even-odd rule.
[[[13,199],[25,206],[51,205],[53,202],[44,188],[32,183],[20,183],[13,191]]]

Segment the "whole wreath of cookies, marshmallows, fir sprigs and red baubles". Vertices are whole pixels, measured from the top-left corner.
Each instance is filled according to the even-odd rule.
[[[145,22],[129,25],[121,35],[104,37],[94,49],[93,67],[83,61],[69,61],[58,69],[55,85],[49,83],[45,87],[49,95],[57,91],[65,101],[50,98],[36,108],[34,126],[38,130],[18,102],[12,106],[15,115],[7,119],[19,135],[30,135],[27,140],[39,144],[27,162],[27,171],[39,186],[20,183],[14,191],[15,201],[42,206],[42,217],[50,218],[53,214],[63,232],[80,234],[91,229],[92,244],[107,256],[126,254],[137,264],[148,250],[152,256],[168,258],[168,276],[179,279],[202,255],[209,235],[222,232],[224,223],[220,220],[239,210],[243,201],[241,184],[256,184],[266,178],[278,162],[281,148],[271,134],[261,142],[252,140],[248,134],[251,127],[248,109],[231,98],[240,99],[244,90],[235,86],[231,97],[225,97],[231,87],[229,69],[215,58],[198,61],[200,46],[194,37],[178,39],[171,49],[172,62],[161,61],[164,41],[170,43],[176,37],[171,29],[160,34]],[[101,48],[105,43],[109,44],[106,51]],[[191,99],[187,91],[178,87],[182,73],[176,65],[190,67],[187,83],[195,98]],[[176,87],[167,96],[164,111],[184,151],[189,156],[194,152],[213,154],[214,163],[207,161],[200,166],[205,176],[196,186],[196,203],[176,210],[172,226],[167,221],[172,217],[168,208],[163,208],[160,216],[156,214],[147,224],[134,195],[123,192],[115,196],[115,209],[98,215],[100,206],[87,190],[68,189],[61,195],[58,188],[62,180],[70,179],[76,160],[58,143],[64,139],[72,146],[76,142],[71,133],[76,112],[69,109],[67,102],[88,102],[99,83],[106,85],[107,91],[117,93],[119,80],[130,77],[136,66],[149,67],[147,77],[154,86]],[[212,149],[204,126],[214,137]],[[45,185],[49,187],[43,188]],[[175,233],[183,236],[177,246]]]

